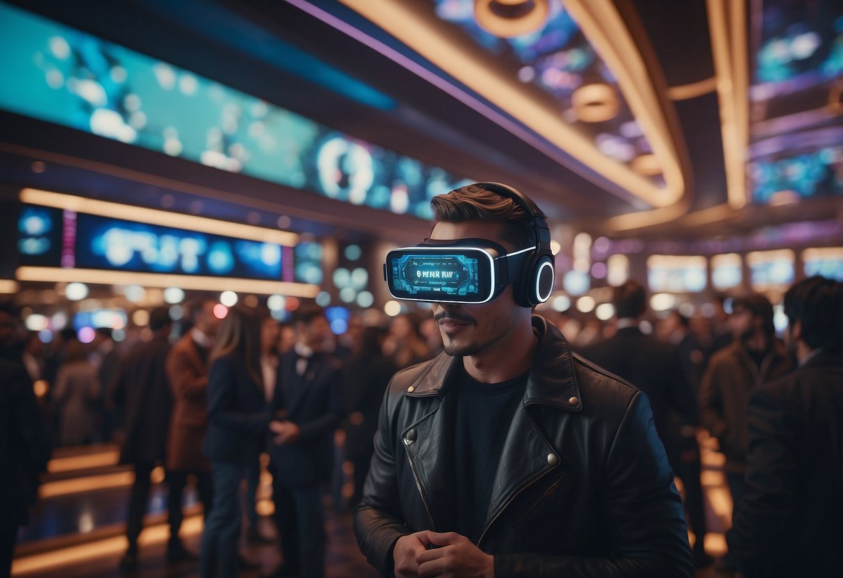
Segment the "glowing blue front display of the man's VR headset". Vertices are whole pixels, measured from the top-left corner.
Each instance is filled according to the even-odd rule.
[[[486,302],[491,255],[481,249],[395,249],[386,260],[389,292],[415,301]]]

